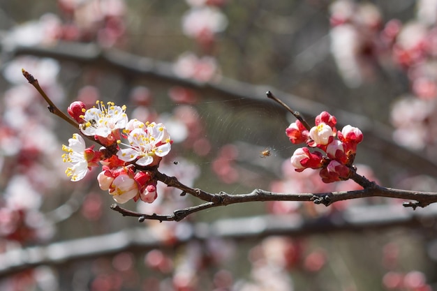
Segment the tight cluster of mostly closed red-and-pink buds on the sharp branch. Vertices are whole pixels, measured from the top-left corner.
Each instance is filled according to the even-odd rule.
[[[296,149],[291,157],[297,172],[308,167],[321,169],[320,177],[325,183],[349,179],[357,144],[362,141],[363,135],[359,128],[353,126],[345,126],[341,131],[337,131],[335,126],[336,118],[325,111],[316,117],[316,126],[310,130],[299,120],[288,126],[286,134],[290,142],[305,142],[308,145]],[[309,147],[315,150],[310,151]]]

